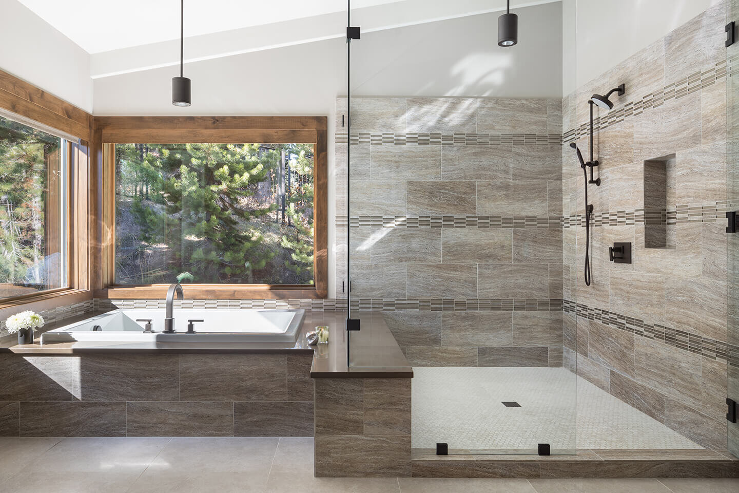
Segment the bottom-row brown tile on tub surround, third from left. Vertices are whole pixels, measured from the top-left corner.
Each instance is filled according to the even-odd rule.
[[[127,402],[126,430],[132,437],[218,437],[234,435],[232,402]]]

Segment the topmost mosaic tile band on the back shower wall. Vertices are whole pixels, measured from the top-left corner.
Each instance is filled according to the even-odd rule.
[[[416,134],[416,133],[358,133],[352,134],[352,145],[372,146],[561,146],[560,134]],[[336,132],[336,143],[347,143],[346,132]]]

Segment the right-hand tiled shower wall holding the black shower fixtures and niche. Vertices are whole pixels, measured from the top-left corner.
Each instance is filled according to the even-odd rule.
[[[726,344],[725,8],[580,87],[563,115],[565,144],[585,154],[588,98],[626,85],[610,112],[596,112],[590,286],[582,171],[563,148],[565,365],[576,360],[580,375],[713,449],[726,449],[726,360],[738,357]],[[668,163],[665,183],[645,180],[655,158]],[[661,217],[668,241],[645,248],[645,197],[652,203],[660,186],[662,210],[647,216]],[[608,261],[613,242],[632,243],[633,263]]]

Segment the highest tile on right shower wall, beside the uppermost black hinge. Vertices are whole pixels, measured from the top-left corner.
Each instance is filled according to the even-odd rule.
[[[716,26],[724,24],[726,4],[719,2],[665,36],[665,79],[676,82],[722,61],[726,56],[726,37],[716,32]]]

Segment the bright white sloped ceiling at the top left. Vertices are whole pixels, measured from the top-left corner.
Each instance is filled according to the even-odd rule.
[[[18,1],[91,54],[180,38],[179,0]],[[352,9],[403,1],[353,0]],[[346,10],[346,0],[185,0],[185,37]]]

